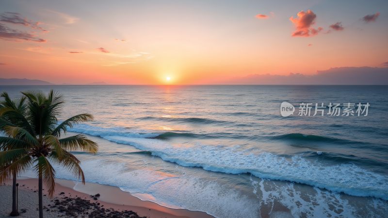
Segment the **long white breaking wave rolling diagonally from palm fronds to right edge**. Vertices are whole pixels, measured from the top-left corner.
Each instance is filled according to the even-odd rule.
[[[267,152],[260,153],[259,149],[241,151],[221,145],[196,144],[193,147],[180,147],[164,140],[145,137],[150,134],[120,133],[114,135],[112,131],[105,132],[107,129],[93,126],[77,127],[72,131],[75,130],[86,134],[92,133],[91,135],[116,143],[131,145],[144,151],[141,154],[159,156],[165,161],[184,167],[200,167],[207,171],[230,174],[250,173],[263,179],[296,182],[354,196],[371,196],[388,200],[388,176],[366,170],[354,163],[327,164],[319,160],[311,162],[300,155],[278,156]],[[305,136],[300,135],[287,134],[285,136],[286,138],[304,139]],[[332,140],[318,136],[310,136],[307,139]]]

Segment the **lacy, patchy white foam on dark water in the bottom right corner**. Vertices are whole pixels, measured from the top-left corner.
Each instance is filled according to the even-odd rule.
[[[297,187],[293,183],[251,178],[251,185],[260,206],[269,207],[270,217],[376,217],[384,218],[388,212],[387,202],[376,198],[355,199],[317,187]],[[290,212],[276,211],[280,202]]]

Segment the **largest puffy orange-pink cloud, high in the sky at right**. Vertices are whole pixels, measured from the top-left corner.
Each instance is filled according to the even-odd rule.
[[[290,17],[291,22],[295,25],[295,31],[292,32],[292,36],[314,36],[323,30],[322,27],[318,27],[317,29],[312,26],[315,24],[315,19],[317,15],[314,14],[311,10],[307,10],[306,12],[300,11],[297,14],[297,17]]]

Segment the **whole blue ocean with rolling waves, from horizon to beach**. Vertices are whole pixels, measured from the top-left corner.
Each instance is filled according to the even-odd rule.
[[[68,132],[99,144],[96,155],[73,152],[87,182],[217,218],[388,214],[388,86],[0,88],[12,97],[36,89],[64,95],[61,120],[95,116]],[[293,115],[281,116],[282,102]],[[298,115],[301,103],[310,116]],[[316,103],[323,116],[313,116]],[[355,106],[330,116],[330,103],[368,103],[368,115]]]

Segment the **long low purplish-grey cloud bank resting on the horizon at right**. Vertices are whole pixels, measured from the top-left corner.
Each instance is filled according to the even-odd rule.
[[[254,74],[220,81],[220,84],[255,85],[388,85],[388,67],[338,67],[313,75]]]

